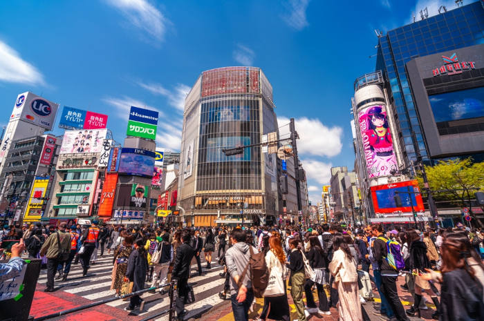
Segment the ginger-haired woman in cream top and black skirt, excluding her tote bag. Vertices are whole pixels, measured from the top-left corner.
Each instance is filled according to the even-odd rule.
[[[277,296],[264,295],[264,306],[261,312],[261,316],[257,320],[290,320],[288,295],[286,292],[286,275],[288,269],[286,268],[286,255],[282,249],[281,235],[279,233],[272,233],[268,237],[269,250],[266,253],[266,264],[269,270],[269,274],[273,269],[277,269],[276,278],[283,283],[283,293]],[[272,273],[274,275],[274,273]],[[276,280],[274,280],[276,282]]]

